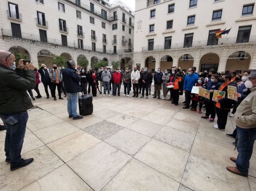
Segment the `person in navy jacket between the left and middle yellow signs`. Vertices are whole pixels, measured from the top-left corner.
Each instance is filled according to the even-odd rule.
[[[219,89],[221,83],[218,81],[219,75],[212,74],[210,82],[208,82],[207,88],[210,92],[210,99],[205,98],[206,114],[202,116],[203,119],[209,119],[210,123],[213,123],[216,116],[215,104],[213,102],[213,91]]]

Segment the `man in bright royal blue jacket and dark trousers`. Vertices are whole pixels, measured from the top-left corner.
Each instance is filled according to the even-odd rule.
[[[193,86],[195,86],[195,83],[197,83],[198,75],[194,73],[195,70],[193,68],[189,68],[188,74],[185,77],[184,80],[184,87],[183,91],[185,93],[185,100],[186,104],[184,105],[183,109],[189,109],[189,105],[191,102],[191,91]]]

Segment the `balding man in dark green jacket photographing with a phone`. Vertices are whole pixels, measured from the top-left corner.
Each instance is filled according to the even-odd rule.
[[[12,53],[0,51],[0,118],[6,129],[5,161],[11,163],[11,170],[26,166],[34,160],[22,159],[20,153],[28,121],[27,110],[33,107],[26,91],[36,86],[35,67],[32,62],[26,66],[23,60],[19,62],[18,68],[24,70],[25,79],[13,70],[14,62],[15,56]]]

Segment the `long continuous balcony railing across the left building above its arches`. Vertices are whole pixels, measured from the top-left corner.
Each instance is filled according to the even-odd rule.
[[[46,37],[42,38],[39,35],[24,33],[24,32],[20,32],[20,31],[18,31],[18,33],[21,36],[15,36],[15,32],[12,32],[11,30],[8,30],[8,29],[1,29],[1,30],[2,30],[3,37],[9,37],[9,38],[12,37],[15,39],[19,38],[19,39],[29,40],[29,42],[33,43],[33,44],[36,42],[39,42],[39,43],[47,44],[47,46],[54,45],[54,47],[60,46],[60,47],[72,47],[75,49],[79,49],[78,43],[74,43],[74,42],[67,42],[67,46],[64,46],[64,45],[62,45],[62,41],[59,39],[46,38]],[[16,34],[17,34],[17,32],[16,32]],[[40,44],[37,44],[37,45],[40,45]],[[83,46],[82,50],[91,51],[91,47]],[[103,52],[103,49],[97,48],[97,52]],[[114,51],[111,49],[106,49],[106,53],[113,54]]]

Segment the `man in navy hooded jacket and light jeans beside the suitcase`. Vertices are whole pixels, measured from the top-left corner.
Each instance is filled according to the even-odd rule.
[[[81,81],[80,72],[75,69],[76,63],[73,60],[67,61],[67,68],[63,70],[63,81],[65,92],[67,93],[67,112],[69,118],[73,120],[82,119],[76,112],[78,102],[78,92],[82,91],[79,82]]]

